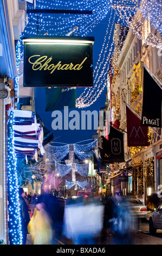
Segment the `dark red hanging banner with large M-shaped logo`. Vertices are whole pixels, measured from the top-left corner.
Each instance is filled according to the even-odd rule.
[[[141,120],[126,106],[127,145],[143,147],[148,145],[147,126],[141,126]]]

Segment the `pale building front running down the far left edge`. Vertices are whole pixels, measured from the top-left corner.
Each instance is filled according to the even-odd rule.
[[[26,20],[27,2],[0,1],[0,240],[8,243],[7,211],[7,110],[14,108],[17,76],[15,40],[20,39]]]

